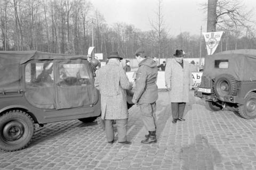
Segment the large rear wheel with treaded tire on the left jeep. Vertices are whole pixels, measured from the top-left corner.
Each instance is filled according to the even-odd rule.
[[[15,151],[27,147],[34,135],[35,124],[22,111],[6,112],[0,117],[0,149]]]

